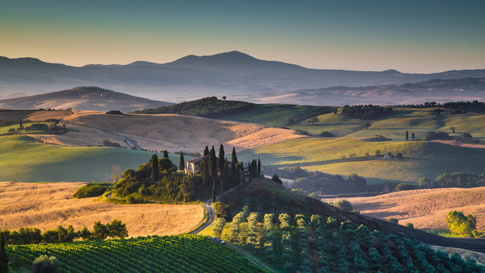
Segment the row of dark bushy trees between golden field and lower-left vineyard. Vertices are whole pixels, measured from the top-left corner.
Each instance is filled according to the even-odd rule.
[[[72,225],[69,225],[67,228],[59,225],[56,229],[48,229],[44,232],[36,227],[21,227],[18,230],[4,229],[1,231],[1,234],[5,238],[5,243],[10,245],[128,237],[126,224],[117,219],[107,224],[101,224],[99,221],[95,222],[92,230],[89,230],[87,227],[83,227],[81,230],[74,230]]]

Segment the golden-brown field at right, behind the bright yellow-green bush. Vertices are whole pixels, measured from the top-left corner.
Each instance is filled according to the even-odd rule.
[[[445,219],[452,210],[463,211],[477,218],[477,229],[485,229],[485,188],[425,189],[388,193],[372,197],[345,198],[362,215],[379,219],[396,218],[401,225],[415,228],[447,230]],[[323,199],[324,202],[337,199]]]

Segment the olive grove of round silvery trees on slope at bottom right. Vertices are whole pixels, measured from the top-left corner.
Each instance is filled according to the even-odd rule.
[[[216,221],[222,240],[242,245],[284,272],[485,272],[474,260],[434,251],[419,241],[365,225],[303,214],[292,219],[245,207],[232,223]]]

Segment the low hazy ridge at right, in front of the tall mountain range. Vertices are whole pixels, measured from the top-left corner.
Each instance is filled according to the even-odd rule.
[[[461,72],[460,72],[461,73]],[[231,97],[231,99],[235,99]],[[301,89],[246,97],[251,102],[309,105],[422,104],[426,101],[485,101],[485,78],[426,80],[415,83]]]

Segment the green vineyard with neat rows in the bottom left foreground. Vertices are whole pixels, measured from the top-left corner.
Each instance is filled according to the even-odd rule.
[[[234,250],[205,236],[148,236],[128,240],[77,241],[6,248],[14,270],[30,268],[41,255],[55,256],[61,272],[264,272]]]

